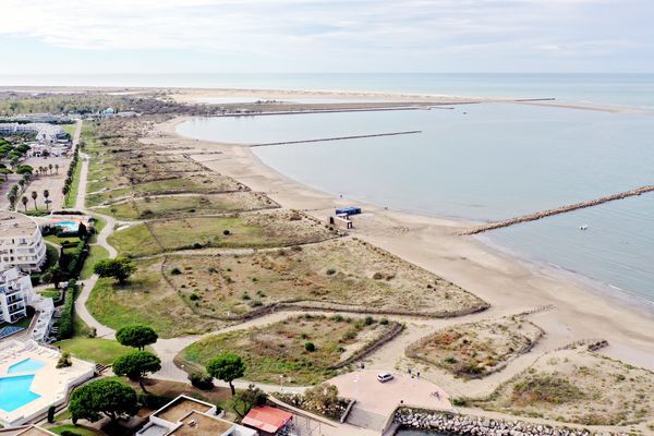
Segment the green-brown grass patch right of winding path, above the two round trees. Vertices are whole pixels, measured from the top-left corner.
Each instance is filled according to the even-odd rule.
[[[193,312],[192,306],[162,279],[164,259],[138,262],[137,272],[124,286],[113,279],[99,279],[86,306],[100,323],[118,329],[130,324],[153,327],[160,337],[207,332],[225,322]]]

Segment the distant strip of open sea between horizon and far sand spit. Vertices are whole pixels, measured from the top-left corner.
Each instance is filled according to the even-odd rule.
[[[22,74],[0,86],[143,86],[367,90],[479,97],[553,97],[564,101],[654,108],[654,74],[244,73]]]

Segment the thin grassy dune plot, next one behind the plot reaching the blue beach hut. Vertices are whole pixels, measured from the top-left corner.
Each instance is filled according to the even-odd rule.
[[[97,210],[117,219],[135,220],[238,213],[276,206],[263,194],[238,192],[216,195],[138,197]]]

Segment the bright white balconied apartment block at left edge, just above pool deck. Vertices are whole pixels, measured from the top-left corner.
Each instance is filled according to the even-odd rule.
[[[0,271],[0,320],[15,323],[27,316],[27,304],[34,296],[28,275],[16,267]]]

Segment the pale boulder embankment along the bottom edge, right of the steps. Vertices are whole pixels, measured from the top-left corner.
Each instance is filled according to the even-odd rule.
[[[553,427],[410,408],[398,409],[395,422],[403,428],[460,436],[627,436],[626,433],[595,433],[585,428]]]

